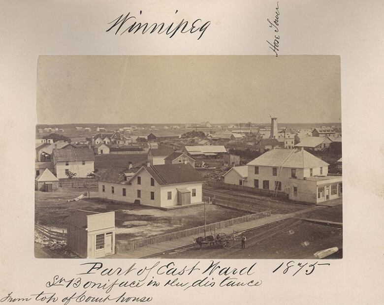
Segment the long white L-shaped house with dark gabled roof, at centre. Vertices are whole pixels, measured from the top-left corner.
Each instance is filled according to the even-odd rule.
[[[158,208],[202,203],[203,178],[189,164],[162,164],[139,169],[113,167],[98,181],[100,198]]]

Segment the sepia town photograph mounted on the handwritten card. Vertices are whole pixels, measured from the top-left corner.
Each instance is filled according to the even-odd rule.
[[[342,258],[340,78],[339,56],[40,56],[35,257]]]

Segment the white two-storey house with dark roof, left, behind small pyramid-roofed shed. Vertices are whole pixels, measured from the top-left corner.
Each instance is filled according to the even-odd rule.
[[[95,170],[95,155],[88,148],[53,149],[53,165],[56,177],[68,178],[68,173],[76,174],[76,178],[86,178]]]

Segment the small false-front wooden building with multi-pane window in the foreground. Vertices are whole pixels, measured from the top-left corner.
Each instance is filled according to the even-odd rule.
[[[67,245],[82,258],[115,253],[115,212],[77,210],[67,217]]]

